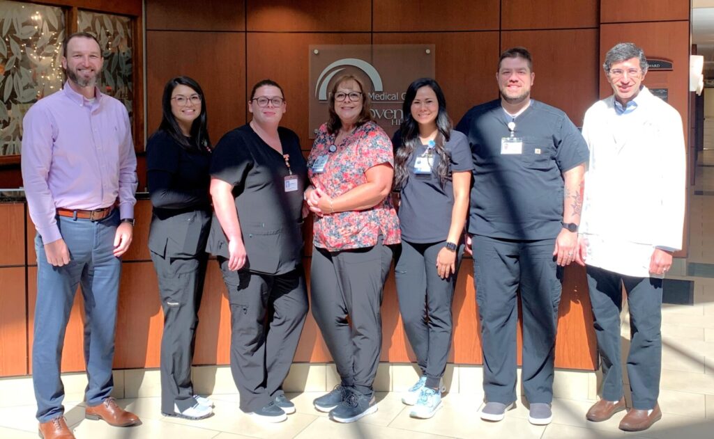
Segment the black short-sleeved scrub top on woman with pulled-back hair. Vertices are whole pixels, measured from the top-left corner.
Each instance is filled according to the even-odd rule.
[[[232,130],[216,145],[211,177],[233,185],[238,220],[248,261],[245,269],[266,274],[291,272],[301,263],[303,192],[307,165],[293,131],[278,127],[283,155],[273,150],[250,125]],[[286,192],[286,177],[297,177],[297,190]],[[213,218],[208,252],[229,257],[228,239]]]

